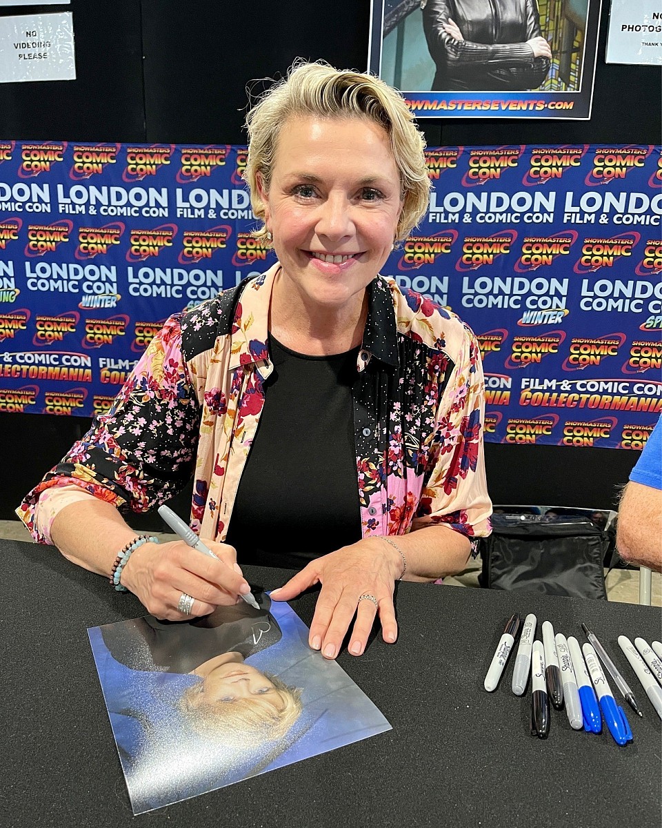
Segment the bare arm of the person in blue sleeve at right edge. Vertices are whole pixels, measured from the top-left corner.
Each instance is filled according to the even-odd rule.
[[[662,491],[633,480],[618,509],[616,549],[624,561],[662,572]]]

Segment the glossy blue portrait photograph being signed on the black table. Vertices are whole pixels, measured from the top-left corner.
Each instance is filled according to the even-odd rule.
[[[90,628],[134,814],[391,729],[288,604]]]

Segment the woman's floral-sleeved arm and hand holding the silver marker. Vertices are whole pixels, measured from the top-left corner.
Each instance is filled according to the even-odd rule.
[[[197,445],[199,405],[181,354],[178,317],[172,317],[118,393],[108,414],[98,417],[62,462],[17,509],[33,537],[52,542],[79,566],[109,575],[113,561],[137,537],[119,508],[144,512],[163,503],[189,479]],[[40,526],[40,499],[48,489],[78,485],[94,495],[70,503]],[[182,593],[193,595],[191,614],[204,615],[218,604],[232,604],[249,591],[231,546],[208,541],[223,558],[213,561],[184,542],[145,543],[122,570],[122,585],[159,618],[181,619]]]

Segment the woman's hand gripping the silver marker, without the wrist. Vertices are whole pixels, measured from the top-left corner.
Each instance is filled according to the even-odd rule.
[[[218,561],[183,541],[143,543],[122,570],[122,586],[131,590],[158,619],[181,621],[209,615],[216,607],[236,604],[250,586],[237,566],[237,551],[225,543],[204,540]],[[182,593],[193,596],[189,615],[177,609]]]

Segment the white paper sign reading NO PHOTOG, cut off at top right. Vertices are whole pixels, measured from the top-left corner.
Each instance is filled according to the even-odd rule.
[[[660,0],[612,0],[605,61],[662,66]]]

